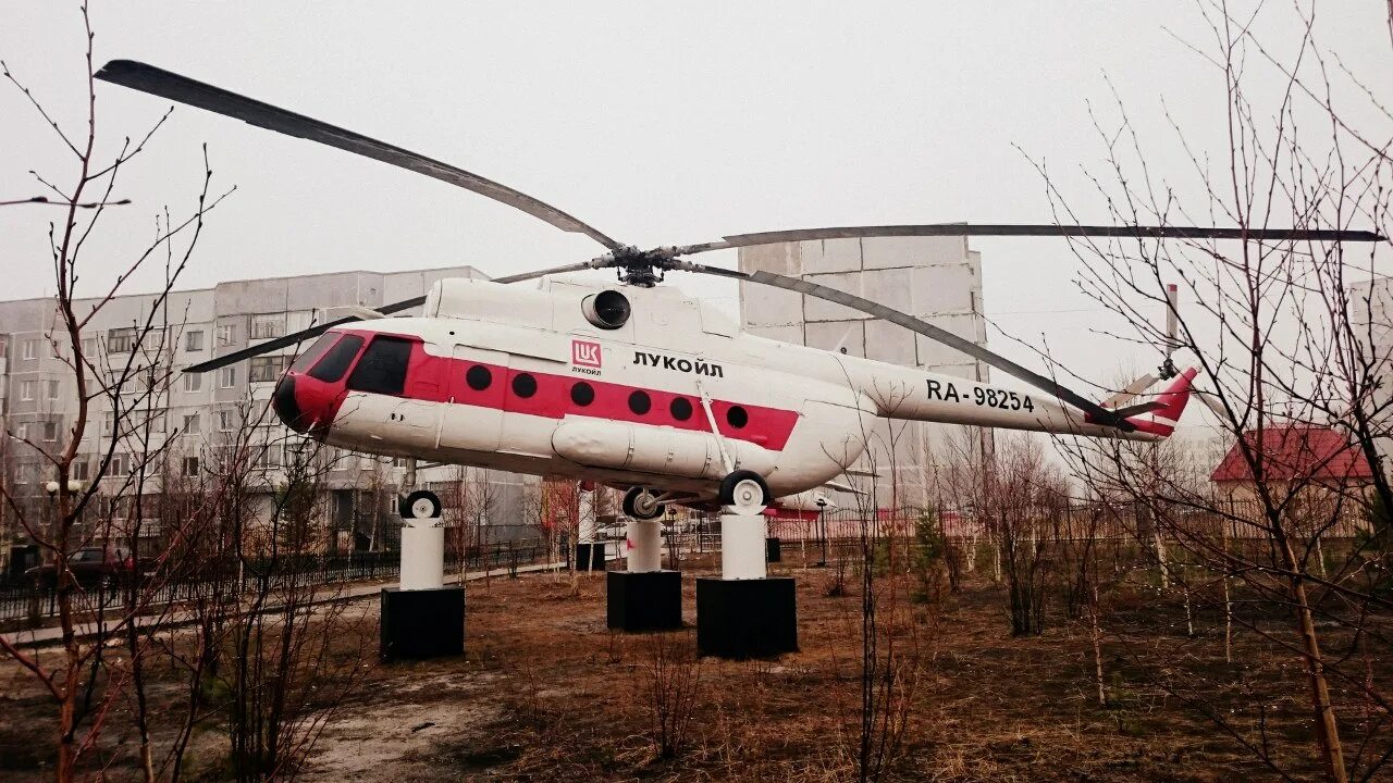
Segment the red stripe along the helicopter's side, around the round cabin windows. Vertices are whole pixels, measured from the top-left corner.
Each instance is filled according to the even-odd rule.
[[[359,334],[365,339],[371,339],[375,334],[386,334],[344,332]],[[432,403],[450,403],[453,398],[454,404],[460,405],[476,405],[552,419],[560,419],[566,415],[582,415],[653,426],[671,426],[694,432],[710,432],[710,424],[706,421],[706,414],[701,407],[701,397],[695,394],[610,383],[589,376],[550,375],[468,359],[436,357],[425,351],[425,346],[419,337],[411,334],[390,336],[412,341],[411,365],[407,369],[407,383],[400,397]],[[488,389],[475,390],[468,386],[465,373],[472,366],[483,366],[489,371],[492,379]],[[351,371],[348,375],[351,375]],[[531,397],[520,397],[514,393],[514,378],[520,375],[531,375],[536,380],[536,393]],[[588,383],[595,389],[595,400],[589,405],[578,405],[571,401],[571,387],[578,383]],[[648,412],[637,414],[630,407],[630,396],[635,392],[648,394],[651,403]],[[678,397],[691,404],[691,415],[685,421],[677,419],[671,412],[671,403]],[[736,428],[730,424],[727,417],[730,410],[736,407],[745,410],[749,419],[745,426]],[[773,451],[783,450],[793,435],[794,425],[798,424],[797,411],[727,400],[712,400],[710,408],[723,437],[745,440]]]

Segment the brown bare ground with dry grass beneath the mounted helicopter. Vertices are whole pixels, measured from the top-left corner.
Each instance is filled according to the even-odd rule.
[[[692,580],[713,564],[683,567],[684,614],[692,624]],[[469,585],[462,659],[373,667],[329,716],[301,777],[854,779],[855,580],[848,574],[850,595],[829,598],[833,573],[783,570],[798,578],[801,652],[776,660],[696,660],[694,630],[667,637],[676,639],[667,663],[695,677],[690,733],[671,758],[655,743],[656,637],[606,630],[602,574],[581,577],[579,596],[570,594],[566,575],[534,574]],[[1085,624],[1052,610],[1043,635],[1013,638],[1003,588],[982,578],[944,596],[937,614],[914,609],[905,616],[914,617],[918,679],[903,747],[886,779],[1277,779],[1206,711],[1233,720],[1245,738],[1266,743],[1295,775],[1318,775],[1295,656],[1241,631],[1234,662],[1224,663],[1222,616],[1199,602],[1191,609],[1195,637],[1187,634],[1180,596],[1141,584],[1119,594],[1103,641],[1107,706],[1098,704]],[[375,602],[361,602],[355,612],[362,619],[357,633],[375,634]],[[1286,623],[1280,614],[1254,619],[1269,620],[1275,630]],[[1371,677],[1387,681],[1390,662],[1371,666]],[[47,779],[52,705],[13,663],[0,669],[0,779]],[[1347,690],[1336,698],[1351,731],[1386,718],[1371,716]],[[128,743],[118,730],[106,737],[107,779],[135,777]],[[223,776],[223,734],[202,731],[195,748],[194,777]]]

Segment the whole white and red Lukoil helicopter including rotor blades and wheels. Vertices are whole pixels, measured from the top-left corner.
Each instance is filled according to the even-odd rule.
[[[742,513],[780,500],[805,503],[818,489],[839,486],[837,476],[859,457],[876,418],[1165,439],[1185,410],[1195,376],[1194,369],[1176,372],[1167,358],[1160,376],[1170,385],[1153,400],[1117,407],[1114,398],[1105,407],[876,302],[769,272],[698,265],[685,256],[843,237],[1378,238],[1340,230],[925,224],[741,234],[642,251],[461,169],[178,74],[116,60],[98,78],[435,177],[605,245],[609,252],[581,263],[492,281],[440,280],[425,297],[228,352],[187,372],[318,337],[273,396],[277,415],[290,428],[357,451],[603,482],[625,489],[624,511],[641,520],[662,515],[667,503],[719,504]],[[616,269],[618,284],[547,277],[586,269]],[[942,341],[1035,392],[745,334],[705,302],[657,286],[673,270],[837,302]],[[536,279],[535,288],[515,286]],[[389,318],[417,307],[421,316]],[[414,492],[403,513],[439,515],[439,499]]]

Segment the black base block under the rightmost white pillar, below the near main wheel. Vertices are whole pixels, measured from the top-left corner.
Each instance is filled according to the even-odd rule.
[[[793,577],[696,580],[696,651],[734,659],[798,652]]]

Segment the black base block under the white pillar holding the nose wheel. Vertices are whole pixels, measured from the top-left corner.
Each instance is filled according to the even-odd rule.
[[[464,653],[464,588],[382,588],[382,662]]]

